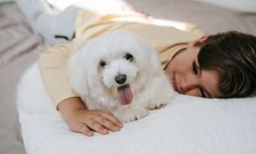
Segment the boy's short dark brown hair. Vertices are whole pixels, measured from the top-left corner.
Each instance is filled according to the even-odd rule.
[[[256,37],[237,31],[209,36],[198,53],[200,69],[220,72],[223,98],[256,94]]]

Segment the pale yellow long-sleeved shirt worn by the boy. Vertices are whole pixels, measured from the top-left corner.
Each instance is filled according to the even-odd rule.
[[[101,15],[93,11],[78,11],[76,38],[70,43],[53,46],[40,55],[42,80],[56,106],[65,99],[79,96],[68,80],[67,60],[70,55],[88,40],[116,29],[134,32],[151,43],[159,53],[163,68],[189,41],[204,35],[196,25],[148,18],[136,12]]]

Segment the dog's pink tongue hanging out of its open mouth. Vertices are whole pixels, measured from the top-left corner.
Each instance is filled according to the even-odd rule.
[[[132,102],[132,91],[130,85],[125,85],[118,87],[117,89],[117,99],[122,105],[127,105]]]

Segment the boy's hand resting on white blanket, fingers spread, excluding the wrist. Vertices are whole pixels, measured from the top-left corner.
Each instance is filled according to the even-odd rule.
[[[72,113],[67,122],[72,131],[81,132],[86,136],[93,136],[92,130],[108,134],[109,130],[116,132],[123,127],[113,114],[88,109],[79,109]]]

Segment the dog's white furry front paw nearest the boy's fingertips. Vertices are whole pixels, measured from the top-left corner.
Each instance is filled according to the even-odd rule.
[[[139,120],[147,116],[149,111],[143,106],[131,106],[116,110],[114,115],[123,123]]]

